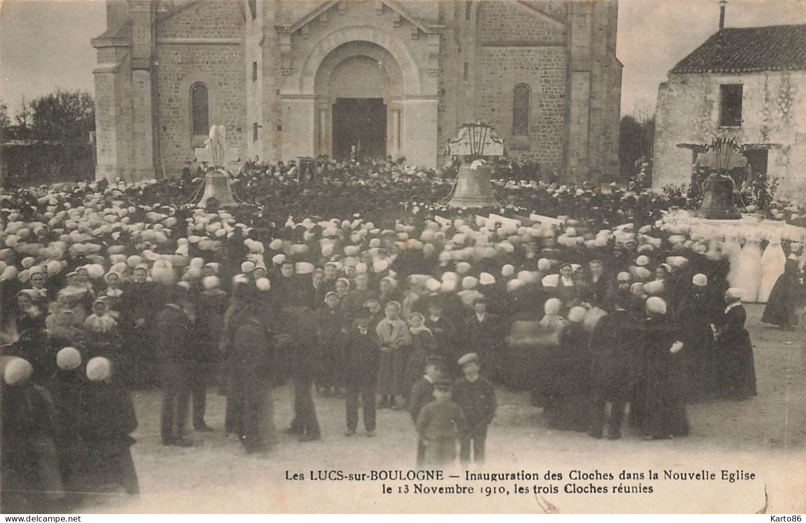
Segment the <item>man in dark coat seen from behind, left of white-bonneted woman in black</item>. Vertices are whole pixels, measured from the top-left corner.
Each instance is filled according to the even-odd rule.
[[[616,301],[612,313],[596,323],[590,341],[593,384],[590,435],[601,438],[605,425],[605,408],[610,410],[608,439],[621,438],[624,409],[634,387],[637,371],[634,351],[634,326],[625,301]]]

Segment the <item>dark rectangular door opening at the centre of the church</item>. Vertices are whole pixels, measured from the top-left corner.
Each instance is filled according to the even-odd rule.
[[[386,156],[387,110],[383,98],[336,98],[333,112],[333,157],[350,158],[352,147],[359,157]]]

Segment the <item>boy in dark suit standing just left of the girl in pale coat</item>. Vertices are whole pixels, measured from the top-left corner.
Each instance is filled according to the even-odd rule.
[[[368,438],[375,435],[375,389],[378,378],[380,345],[370,329],[370,313],[360,310],[344,345],[344,384],[347,388],[347,432],[352,436],[358,427],[358,396],[364,410],[364,429]]]

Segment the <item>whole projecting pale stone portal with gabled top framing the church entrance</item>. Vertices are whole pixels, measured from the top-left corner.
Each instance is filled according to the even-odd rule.
[[[295,50],[297,42],[301,48]],[[426,45],[425,40],[418,45]],[[374,121],[383,120],[385,111],[385,143],[384,129],[378,126],[371,131],[369,147],[393,158],[405,156],[408,164],[435,167],[437,77],[414,59],[424,51],[409,48],[388,31],[365,26],[341,27],[310,43],[293,40],[292,67],[280,85],[282,155],[338,156],[345,146],[334,138],[334,116],[339,131],[340,125],[351,125],[343,114],[369,111]],[[294,56],[296,52],[300,54]],[[334,115],[339,100],[346,107],[343,113],[337,107]]]

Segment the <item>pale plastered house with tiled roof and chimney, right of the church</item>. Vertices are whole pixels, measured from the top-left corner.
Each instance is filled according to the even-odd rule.
[[[806,25],[720,27],[660,85],[653,185],[690,183],[698,146],[726,136],[746,149],[753,176],[806,196],[804,116]]]

